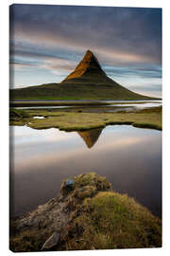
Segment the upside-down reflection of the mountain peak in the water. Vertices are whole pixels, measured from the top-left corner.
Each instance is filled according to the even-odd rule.
[[[101,135],[103,128],[93,129],[84,132],[77,132],[77,134],[82,137],[87,147],[90,149],[93,147],[98,137]]]

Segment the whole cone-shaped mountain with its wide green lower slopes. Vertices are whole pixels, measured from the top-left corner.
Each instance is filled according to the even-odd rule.
[[[111,80],[91,50],[60,83],[10,90],[13,100],[151,100]]]

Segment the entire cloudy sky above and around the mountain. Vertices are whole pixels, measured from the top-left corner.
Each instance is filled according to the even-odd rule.
[[[128,89],[161,97],[161,9],[12,5],[10,87],[61,82],[93,51]]]

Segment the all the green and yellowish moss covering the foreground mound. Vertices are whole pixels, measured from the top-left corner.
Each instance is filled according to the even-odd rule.
[[[161,220],[95,173],[74,178],[72,210],[60,249],[161,247]]]

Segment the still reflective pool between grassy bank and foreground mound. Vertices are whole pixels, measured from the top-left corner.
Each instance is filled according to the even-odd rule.
[[[130,125],[66,133],[10,126],[12,216],[59,192],[63,178],[95,172],[161,216],[161,132]]]

